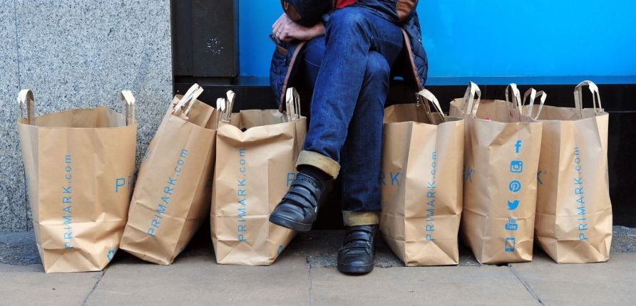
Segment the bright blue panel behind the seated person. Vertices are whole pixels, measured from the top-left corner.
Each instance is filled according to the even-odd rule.
[[[267,77],[274,47],[267,35],[282,14],[279,1],[240,0],[239,8],[240,73]],[[517,76],[635,80],[635,0],[420,0],[417,11],[433,83]]]

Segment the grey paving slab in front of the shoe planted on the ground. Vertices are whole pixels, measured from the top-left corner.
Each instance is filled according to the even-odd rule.
[[[342,275],[312,268],[313,305],[538,305],[503,266],[375,268]]]

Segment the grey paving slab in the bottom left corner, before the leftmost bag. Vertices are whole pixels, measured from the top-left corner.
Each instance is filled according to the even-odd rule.
[[[81,305],[101,272],[45,274],[42,265],[0,263],[1,305]]]

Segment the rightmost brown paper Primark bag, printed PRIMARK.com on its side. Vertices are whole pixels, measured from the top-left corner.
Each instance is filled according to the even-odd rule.
[[[583,87],[593,108],[583,108]],[[530,106],[543,122],[535,231],[557,263],[610,258],[612,204],[607,175],[607,123],[597,86],[574,90],[575,107]]]

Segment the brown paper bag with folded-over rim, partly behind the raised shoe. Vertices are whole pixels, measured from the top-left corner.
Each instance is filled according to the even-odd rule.
[[[232,114],[232,99],[227,102],[217,130],[210,212],[217,263],[270,265],[294,237],[294,231],[269,218],[294,180],[307,119],[299,115],[292,88],[287,90],[287,113]]]

